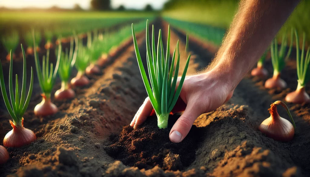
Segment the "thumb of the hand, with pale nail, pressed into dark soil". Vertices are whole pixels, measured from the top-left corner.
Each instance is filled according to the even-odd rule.
[[[170,130],[169,139],[173,143],[181,142],[190,131],[193,123],[204,111],[195,104],[187,104],[181,117],[175,122]]]

